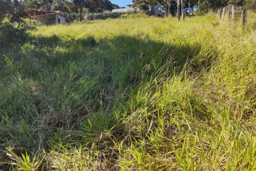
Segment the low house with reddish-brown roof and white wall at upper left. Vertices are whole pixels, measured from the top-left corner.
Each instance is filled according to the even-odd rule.
[[[37,10],[37,9],[28,9],[27,14],[30,19],[37,20],[37,22],[49,22],[49,23],[66,23],[65,14],[59,10],[55,12],[45,11],[45,10]]]

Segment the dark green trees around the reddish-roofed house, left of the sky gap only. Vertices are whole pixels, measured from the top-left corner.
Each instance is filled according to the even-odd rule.
[[[0,21],[5,14],[18,21],[26,16],[27,9],[61,10],[69,20],[82,20],[84,13],[102,13],[120,8],[109,0],[0,0]]]

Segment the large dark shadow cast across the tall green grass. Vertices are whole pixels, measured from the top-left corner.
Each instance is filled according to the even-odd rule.
[[[0,103],[0,112],[12,121],[3,122],[5,129],[0,134],[0,144],[35,151],[40,144],[47,149],[59,141],[63,146],[69,147],[71,143],[89,147],[97,139],[101,148],[101,143],[112,142],[98,139],[102,132],[109,130],[122,139],[122,124],[113,114],[113,106],[120,100],[128,101],[129,91],[134,88],[136,91],[158,75],[178,74],[185,63],[198,55],[200,48],[201,45],[174,46],[122,35],[110,40],[94,37],[63,40],[56,35],[30,37],[17,52],[20,58],[15,58],[15,68],[3,76],[17,77],[20,73],[20,79],[35,85],[30,92],[5,87],[14,95],[0,94],[1,99],[5,99]],[[209,67],[212,60],[210,57],[197,60],[193,68],[200,72],[206,67],[205,62]],[[0,80],[6,81],[4,77]],[[8,83],[12,82],[6,81],[3,85]],[[15,105],[16,101],[19,105]],[[21,117],[28,127],[26,132],[14,126],[20,124]],[[16,130],[10,133],[8,127]],[[103,146],[106,145],[109,144]]]

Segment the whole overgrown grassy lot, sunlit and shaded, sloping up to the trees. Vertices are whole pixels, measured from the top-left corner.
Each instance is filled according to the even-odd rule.
[[[256,169],[256,15],[39,26],[1,48],[0,167]]]

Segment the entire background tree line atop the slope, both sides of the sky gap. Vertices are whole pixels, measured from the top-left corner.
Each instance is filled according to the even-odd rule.
[[[26,17],[27,9],[61,10],[72,22],[76,19],[82,20],[85,13],[102,13],[120,8],[109,0],[0,0],[0,4],[0,22],[5,14],[9,14],[12,16],[11,22],[18,23],[22,23],[20,18]],[[256,9],[255,0],[134,0],[134,4],[142,11],[148,10],[151,5],[161,4],[169,15],[184,15],[185,8],[193,9],[195,5],[198,7],[199,15],[208,12],[209,9],[216,10],[227,5]]]

